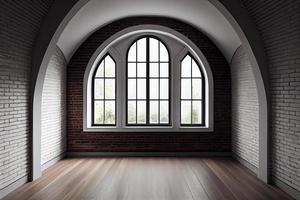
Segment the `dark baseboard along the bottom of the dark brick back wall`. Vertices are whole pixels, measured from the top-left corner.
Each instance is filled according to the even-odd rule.
[[[231,157],[231,152],[67,152],[67,157]]]

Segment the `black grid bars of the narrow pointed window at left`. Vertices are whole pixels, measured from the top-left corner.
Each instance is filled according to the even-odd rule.
[[[106,68],[106,58],[111,58],[112,61],[114,62],[114,76],[106,76],[105,73],[105,68]],[[103,63],[103,76],[102,77],[97,77],[97,72],[99,70],[99,68],[101,67],[101,64]],[[95,82],[96,80],[103,80],[103,98],[96,98],[96,94],[95,94]],[[115,81],[115,91],[114,91],[114,98],[106,98],[105,96],[105,92],[106,92],[106,80],[114,80]],[[93,75],[93,81],[92,81],[92,125],[93,126],[116,126],[116,116],[117,116],[117,103],[116,103],[116,98],[117,98],[117,82],[116,82],[116,62],[114,61],[114,59],[109,55],[106,54],[102,60],[100,60],[97,68],[95,69],[94,75]],[[96,123],[95,121],[95,104],[96,102],[101,102],[102,101],[102,106],[103,106],[103,123]],[[105,123],[105,115],[106,115],[106,109],[105,109],[105,103],[106,102],[114,102],[115,104],[115,108],[114,108],[114,123]]]

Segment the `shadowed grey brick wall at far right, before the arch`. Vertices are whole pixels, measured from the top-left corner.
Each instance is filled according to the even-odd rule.
[[[242,1],[269,61],[272,175],[300,191],[300,1]]]

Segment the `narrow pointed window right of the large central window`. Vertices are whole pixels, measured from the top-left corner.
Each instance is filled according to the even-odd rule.
[[[184,126],[204,124],[205,86],[202,71],[195,59],[187,54],[180,64],[180,123]]]

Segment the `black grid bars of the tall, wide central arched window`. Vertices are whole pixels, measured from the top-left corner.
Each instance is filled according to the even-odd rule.
[[[141,61],[138,61],[138,41],[140,39],[143,39],[143,38],[146,38],[146,62],[141,62]],[[150,44],[149,44],[149,40],[150,38],[153,38],[155,39],[157,42],[158,42],[158,61],[150,61],[150,51],[149,51],[149,48],[150,48]],[[127,52],[127,103],[126,103],[126,124],[129,125],[129,126],[144,126],[144,125],[147,125],[147,126],[169,126],[170,125],[170,115],[171,115],[171,111],[170,111],[170,58],[169,58],[169,52],[168,52],[168,49],[167,47],[157,38],[155,37],[150,37],[150,36],[147,36],[147,37],[141,37],[137,40],[135,40],[135,42],[130,45],[128,51],[131,49],[131,47],[133,47],[133,45],[135,45],[135,50],[136,50],[136,55],[135,55],[135,61],[128,61],[128,52]],[[167,53],[168,53],[168,61],[160,61],[160,45],[164,45],[165,48],[167,49]],[[136,69],[136,75],[135,77],[128,77],[128,64],[130,63],[134,63],[135,64],[135,69]],[[146,64],[146,77],[138,77],[138,64],[139,63],[144,63]],[[150,64],[152,63],[157,63],[158,64],[158,77],[150,77]],[[168,77],[160,77],[160,67],[161,67],[161,64],[162,63],[167,63],[168,64]],[[128,80],[131,80],[131,79],[135,79],[136,80],[136,98],[135,99],[129,99],[128,98]],[[139,99],[138,98],[138,84],[137,84],[137,80],[138,79],[146,79],[146,99]],[[150,80],[153,80],[153,79],[157,79],[158,80],[158,98],[157,99],[150,99]],[[166,79],[168,80],[168,98],[167,99],[161,99],[160,98],[160,84],[161,84],[161,79]],[[128,104],[130,101],[135,101],[136,105],[135,105],[135,123],[129,123],[129,117],[128,117]],[[146,101],[146,122],[145,123],[138,123],[138,101]],[[150,121],[150,102],[152,101],[157,101],[158,102],[158,122],[157,123],[151,123]],[[168,102],[168,123],[161,123],[161,119],[160,119],[160,115],[161,115],[161,109],[160,109],[160,103],[161,101],[167,101]]]

